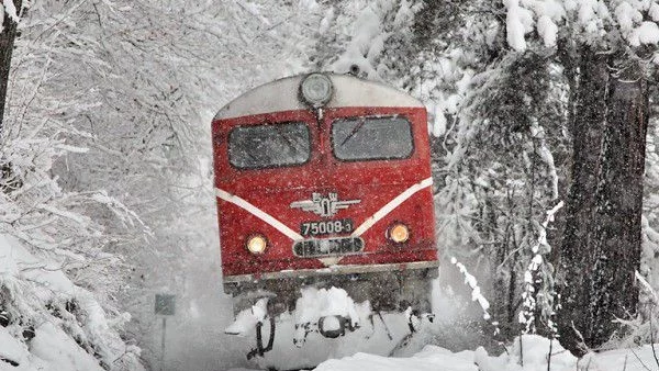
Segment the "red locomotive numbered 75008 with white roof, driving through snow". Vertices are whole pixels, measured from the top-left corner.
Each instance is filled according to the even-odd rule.
[[[236,313],[267,297],[273,333],[272,318],[309,285],[375,311],[431,312],[439,263],[426,120],[406,93],[332,74],[276,80],[220,110],[215,192]],[[351,329],[319,319],[328,337]]]

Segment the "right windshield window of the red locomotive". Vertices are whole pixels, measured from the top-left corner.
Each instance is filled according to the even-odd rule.
[[[336,120],[332,145],[342,160],[401,159],[414,150],[410,121],[400,116]]]

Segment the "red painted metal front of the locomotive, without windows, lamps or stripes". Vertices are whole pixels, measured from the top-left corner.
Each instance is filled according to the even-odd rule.
[[[380,104],[381,105],[381,104]],[[423,106],[337,106],[320,112],[297,109],[213,121],[215,188],[236,195],[300,233],[304,222],[350,218],[359,226],[405,190],[431,178],[426,111]],[[331,125],[338,117],[405,116],[412,126],[414,150],[410,158],[396,160],[343,161],[332,150]],[[300,166],[241,170],[228,161],[228,135],[232,128],[263,123],[304,122],[311,134],[311,159]],[[291,203],[310,200],[313,192],[337,193],[340,200],[360,200],[331,217],[321,217]],[[272,225],[235,203],[217,199],[222,269],[225,280],[266,272],[324,269],[319,258],[293,255],[293,240]],[[394,222],[410,228],[410,239],[396,245],[387,238]],[[246,238],[255,233],[268,239],[263,255],[246,249]],[[348,236],[349,233],[332,234]],[[334,263],[383,265],[436,261],[432,187],[425,187],[375,223],[361,236],[361,254],[348,255]]]

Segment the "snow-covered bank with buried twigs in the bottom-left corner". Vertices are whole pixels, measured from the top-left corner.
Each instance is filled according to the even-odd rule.
[[[143,370],[107,317],[60,263],[0,234],[0,371]]]

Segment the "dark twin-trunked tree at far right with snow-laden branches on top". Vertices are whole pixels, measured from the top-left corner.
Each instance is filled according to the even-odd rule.
[[[613,319],[636,313],[651,70],[643,59],[659,41],[656,7],[506,2],[509,44],[524,49],[524,34],[535,27],[546,47],[557,47],[570,78],[573,147],[559,318],[563,342],[573,351],[581,341],[600,346],[615,331]]]

